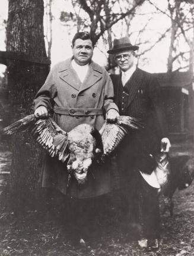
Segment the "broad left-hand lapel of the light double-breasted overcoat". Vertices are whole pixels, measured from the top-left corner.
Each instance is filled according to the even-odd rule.
[[[59,71],[59,77],[64,82],[68,83],[72,88],[79,90],[81,81],[74,68],[71,67],[71,60],[65,61],[64,67]]]

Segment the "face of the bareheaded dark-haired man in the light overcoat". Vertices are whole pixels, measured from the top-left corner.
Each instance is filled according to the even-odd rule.
[[[72,48],[74,60],[78,65],[86,65],[93,57],[93,44],[90,39],[76,39]]]

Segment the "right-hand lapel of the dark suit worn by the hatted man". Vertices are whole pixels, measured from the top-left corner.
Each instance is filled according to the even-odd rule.
[[[136,95],[136,92],[138,92],[139,87],[142,85],[142,82],[143,82],[142,72],[141,70],[139,70],[139,68],[136,68],[135,72],[132,74],[131,78],[125,85],[129,90],[128,107],[133,101]]]

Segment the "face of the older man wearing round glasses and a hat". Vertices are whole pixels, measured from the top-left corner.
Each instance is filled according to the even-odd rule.
[[[133,51],[120,51],[115,54],[115,61],[122,71],[127,71],[132,67],[135,61]]]

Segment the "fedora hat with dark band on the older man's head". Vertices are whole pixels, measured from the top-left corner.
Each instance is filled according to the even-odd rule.
[[[108,54],[115,54],[116,52],[124,51],[124,50],[132,50],[136,51],[139,49],[139,46],[132,45],[129,38],[125,36],[125,38],[114,39],[113,48],[107,51]]]

